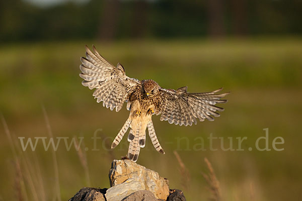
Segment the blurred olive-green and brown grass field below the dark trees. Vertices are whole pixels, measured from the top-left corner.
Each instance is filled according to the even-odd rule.
[[[215,170],[223,200],[294,200],[302,196],[299,189],[302,40],[263,38],[1,46],[0,113],[7,124],[0,126],[0,131],[10,131],[11,135],[3,135],[0,141],[3,164],[0,178],[6,181],[0,184],[0,200],[20,200],[20,194],[23,200],[48,200],[53,196],[67,200],[88,183],[109,187],[111,161],[126,154],[127,140],[123,139],[112,151],[107,148],[128,112],[125,107],[119,113],[103,108],[93,99],[93,91],[81,85],[79,58],[85,55],[85,44],[95,44],[113,64],[122,63],[130,77],[152,78],[165,88],[187,85],[190,92],[221,86],[223,91],[231,91],[227,96],[229,102],[220,105],[225,111],[214,122],[179,127],[161,122],[159,117],[153,118],[166,154],[158,154],[146,139],[137,162],[169,178],[171,188],[182,188],[183,181],[176,176],[179,169],[175,168],[179,163],[173,154],[177,150],[190,173],[190,188],[182,189],[188,200],[205,200],[211,196],[201,174],[207,171],[204,157]],[[18,137],[49,136],[41,105],[47,111],[46,122],[51,124],[53,137],[70,140],[73,136],[83,136],[89,150],[81,147],[80,156],[75,149],[66,151],[62,143],[54,153],[56,162],[53,152],[44,151],[42,143],[38,143],[35,152],[20,151]],[[269,128],[270,148],[273,139],[281,136],[285,143],[278,146],[284,151],[247,150],[265,135],[264,128]],[[92,151],[91,138],[98,129],[102,129],[96,134],[101,138],[97,140],[99,150]],[[225,145],[228,145],[227,137],[234,140],[248,137],[242,144],[245,151],[221,151],[218,141],[213,144],[218,150],[210,151],[206,140],[210,133],[224,137]],[[179,137],[186,137],[189,146],[185,141],[178,143]],[[196,150],[200,143],[197,137],[204,138],[206,151]],[[261,142],[260,146],[263,145]]]

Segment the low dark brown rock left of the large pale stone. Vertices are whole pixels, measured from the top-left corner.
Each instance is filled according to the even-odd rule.
[[[75,193],[68,201],[105,201],[104,194],[106,193],[106,190],[107,188],[84,187]]]

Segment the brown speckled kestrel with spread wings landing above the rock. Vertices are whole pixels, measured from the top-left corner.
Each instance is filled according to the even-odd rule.
[[[110,110],[115,108],[118,112],[127,102],[130,115],[111,148],[119,144],[130,127],[127,157],[135,162],[140,148],[145,146],[146,129],[155,149],[165,154],[156,136],[152,115],[161,115],[161,121],[170,124],[191,126],[197,123],[197,119],[213,121],[213,117],[219,117],[216,111],[223,111],[215,106],[227,101],[221,98],[228,93],[217,94],[222,88],[204,93],[189,93],[186,86],[177,90],[165,89],[152,79],[139,81],[126,76],[120,63],[115,67],[97,52],[95,46],[93,51],[86,46],[86,58],[81,58],[82,84],[90,89],[96,88],[93,95],[97,102],[103,102],[103,106]]]

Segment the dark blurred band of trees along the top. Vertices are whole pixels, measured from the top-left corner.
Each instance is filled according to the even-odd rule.
[[[0,2],[1,42],[300,35],[299,0],[91,0],[40,8]]]

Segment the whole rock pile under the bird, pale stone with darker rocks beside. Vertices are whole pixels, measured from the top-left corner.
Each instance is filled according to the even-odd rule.
[[[85,187],[68,201],[186,200],[181,190],[169,190],[168,179],[131,160],[114,160],[109,181],[109,189]]]

